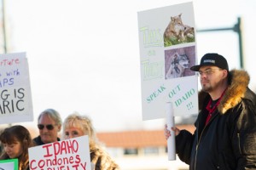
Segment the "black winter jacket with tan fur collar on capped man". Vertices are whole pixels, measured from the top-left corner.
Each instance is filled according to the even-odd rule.
[[[249,79],[246,71],[230,71],[230,85],[207,126],[211,98],[200,92],[195,133],[182,130],[176,137],[177,155],[190,170],[256,169],[256,95],[247,88]]]

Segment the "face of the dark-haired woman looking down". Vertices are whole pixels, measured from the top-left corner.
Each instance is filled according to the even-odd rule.
[[[11,159],[17,158],[22,154],[22,146],[19,141],[13,144],[3,144],[3,148]]]

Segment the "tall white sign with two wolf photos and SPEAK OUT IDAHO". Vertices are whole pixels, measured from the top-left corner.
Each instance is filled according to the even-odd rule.
[[[198,112],[193,3],[138,12],[143,120],[165,118],[166,103],[174,116]]]

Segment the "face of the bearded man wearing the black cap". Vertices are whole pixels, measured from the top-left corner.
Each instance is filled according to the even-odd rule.
[[[211,93],[222,86],[225,77],[224,71],[226,70],[221,70],[216,66],[201,66],[199,73],[201,75],[200,82],[202,90]]]

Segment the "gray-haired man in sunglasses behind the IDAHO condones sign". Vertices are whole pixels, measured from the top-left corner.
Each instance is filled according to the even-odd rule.
[[[49,144],[60,141],[58,133],[61,131],[61,115],[53,110],[47,109],[38,116],[39,135],[34,138],[38,145]]]

